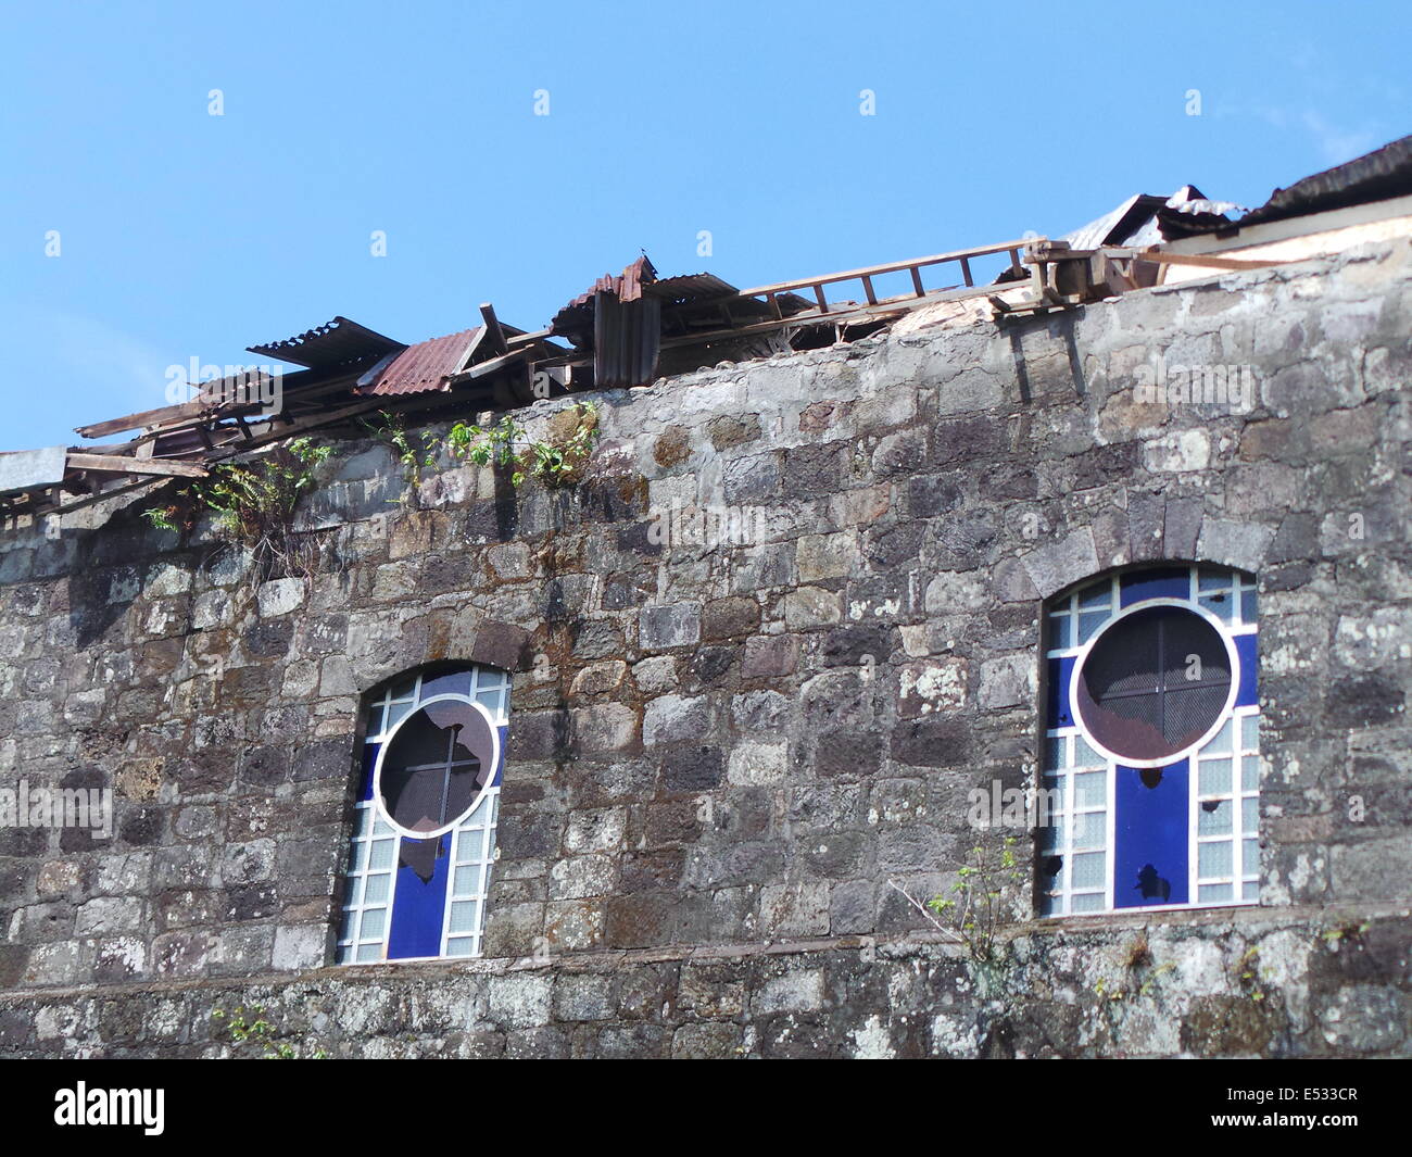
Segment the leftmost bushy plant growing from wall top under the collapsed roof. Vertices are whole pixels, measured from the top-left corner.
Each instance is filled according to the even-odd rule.
[[[291,438],[247,462],[215,466],[143,517],[185,537],[202,514],[213,514],[219,538],[250,547],[263,564],[278,564],[287,574],[309,575],[316,550],[294,531],[294,511],[332,452],[309,438]]]

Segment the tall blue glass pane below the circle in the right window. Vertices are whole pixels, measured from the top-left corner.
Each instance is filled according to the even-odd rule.
[[[1187,903],[1186,760],[1161,769],[1118,767],[1113,906]]]

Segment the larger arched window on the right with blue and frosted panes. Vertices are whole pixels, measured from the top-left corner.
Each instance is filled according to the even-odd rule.
[[[1255,903],[1254,578],[1125,571],[1056,596],[1045,629],[1042,913]]]

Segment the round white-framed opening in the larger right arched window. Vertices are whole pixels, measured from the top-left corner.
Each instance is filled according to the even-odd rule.
[[[1076,718],[1115,759],[1155,766],[1196,747],[1236,698],[1226,636],[1180,605],[1117,616],[1075,672]]]

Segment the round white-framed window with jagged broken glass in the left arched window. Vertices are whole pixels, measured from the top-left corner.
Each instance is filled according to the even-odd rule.
[[[490,712],[463,695],[439,695],[393,729],[377,753],[373,793],[395,828],[425,839],[470,815],[498,761]]]

